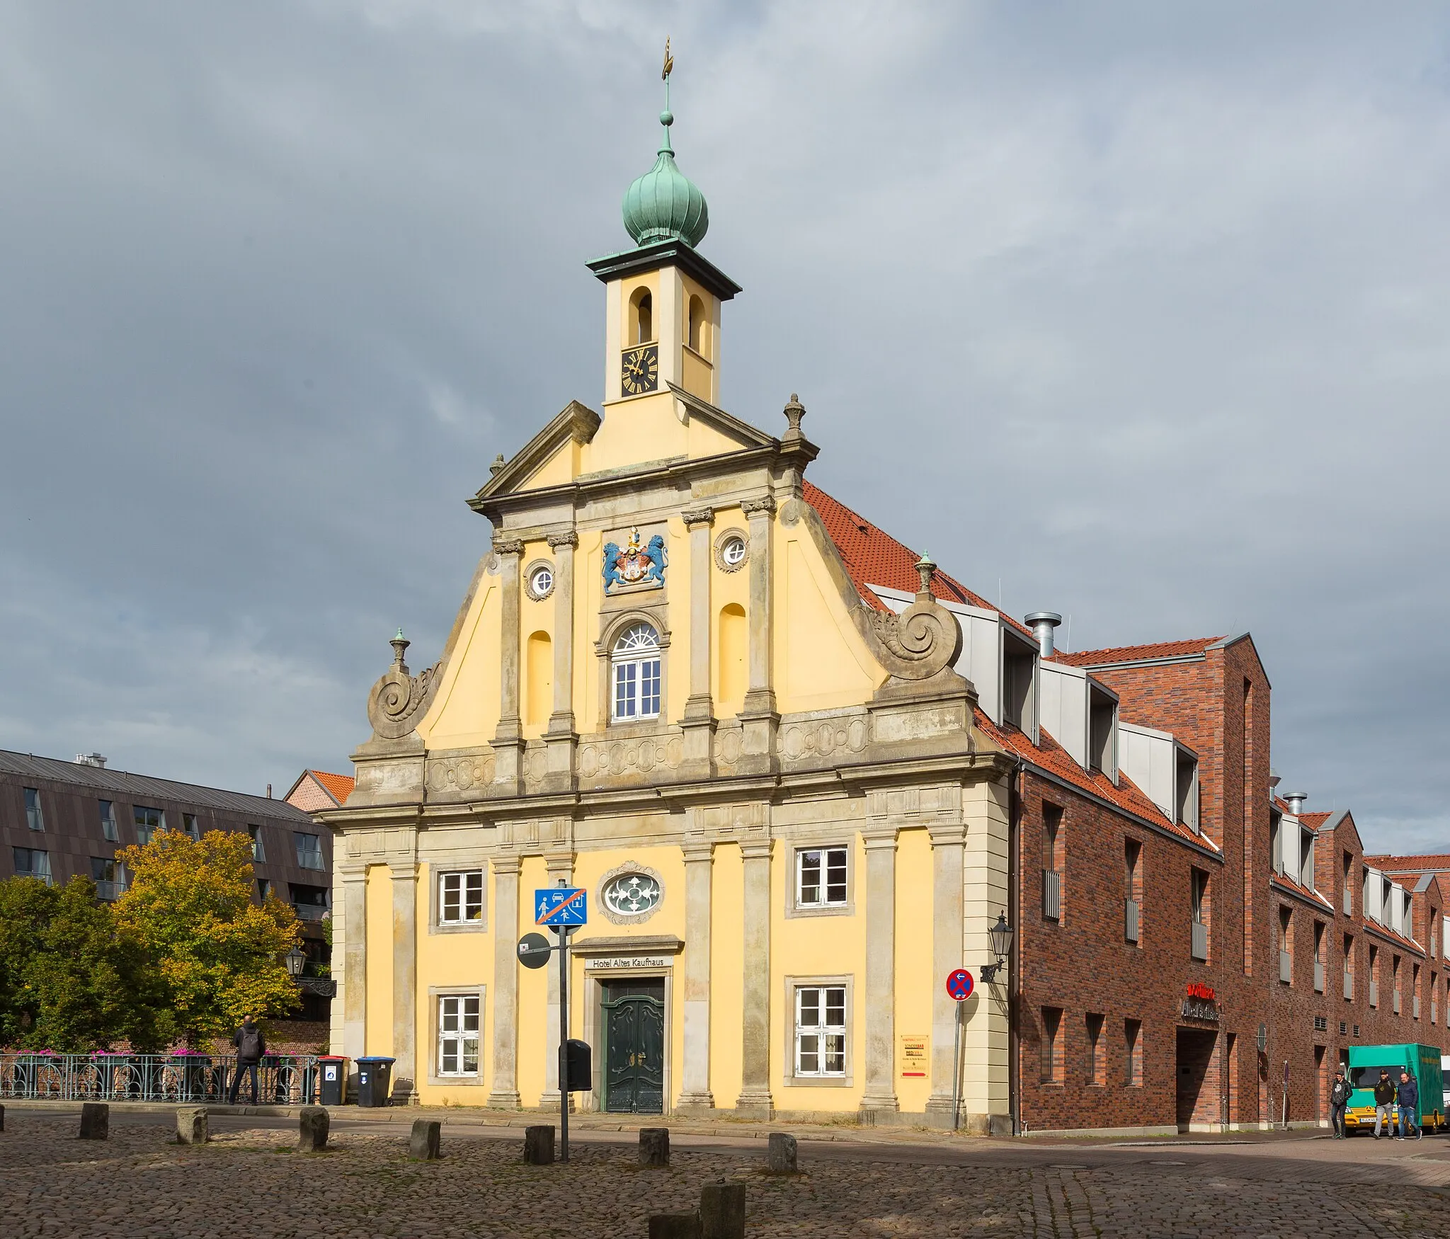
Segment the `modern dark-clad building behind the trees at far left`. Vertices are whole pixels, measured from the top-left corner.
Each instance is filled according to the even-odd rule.
[[[276,895],[293,905],[307,974],[326,974],[331,952],[320,923],[329,913],[332,831],[302,810],[271,796],[112,770],[99,754],[64,762],[0,750],[0,879],[64,884],[84,875],[100,898],[115,900],[126,888],[116,853],[157,830],[251,836],[252,898]],[[331,981],[307,975],[302,988],[299,1016],[328,1018]]]

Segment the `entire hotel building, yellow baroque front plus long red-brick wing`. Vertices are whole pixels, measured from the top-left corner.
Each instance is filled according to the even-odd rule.
[[[1054,651],[816,489],[795,396],[776,434],[722,408],[741,289],[671,119],[589,263],[599,409],[493,463],[447,644],[394,640],[319,815],[334,1049],[393,1056],[394,1101],[557,1107],[557,969],[516,943],[560,882],[583,1110],[1315,1123],[1348,1045],[1446,1046],[1438,879],[1276,792],[1247,634]]]

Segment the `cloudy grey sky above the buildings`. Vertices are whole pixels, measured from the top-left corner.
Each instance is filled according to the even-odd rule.
[[[0,0],[0,746],[347,769],[464,499],[597,406],[674,38],[724,403],[1072,647],[1251,630],[1450,846],[1450,9]]]

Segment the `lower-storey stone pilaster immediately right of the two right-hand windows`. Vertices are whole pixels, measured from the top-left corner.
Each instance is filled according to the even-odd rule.
[[[874,796],[873,796],[874,799]],[[896,828],[873,824],[866,844],[866,1090],[861,1116],[896,1114]]]

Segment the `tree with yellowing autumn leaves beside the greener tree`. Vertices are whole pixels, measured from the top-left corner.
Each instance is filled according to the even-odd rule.
[[[299,1004],[284,956],[299,942],[293,910],[273,895],[252,902],[252,844],[212,830],[193,840],[164,830],[116,853],[130,885],[116,901],[117,930],[165,987],[175,1040],[229,1037],[242,1016],[284,1016]]]

